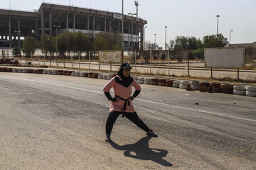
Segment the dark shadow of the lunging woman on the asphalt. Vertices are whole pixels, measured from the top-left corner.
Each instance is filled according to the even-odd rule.
[[[163,166],[173,166],[173,164],[163,159],[167,156],[168,151],[164,149],[149,148],[150,139],[151,137],[143,137],[141,140],[134,144],[119,146],[117,143],[111,142],[110,145],[112,145],[114,149],[124,150],[125,157],[151,160]]]

